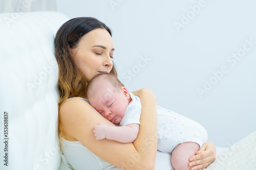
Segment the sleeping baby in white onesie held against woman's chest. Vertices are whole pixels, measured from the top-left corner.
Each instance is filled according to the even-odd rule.
[[[87,88],[89,104],[103,117],[119,126],[103,123],[94,127],[97,140],[110,139],[133,142],[138,135],[141,103],[138,96],[130,93],[111,74],[98,74]],[[207,140],[205,129],[187,117],[156,106],[158,114],[158,150],[172,153],[171,163],[175,169],[189,169],[189,158]]]

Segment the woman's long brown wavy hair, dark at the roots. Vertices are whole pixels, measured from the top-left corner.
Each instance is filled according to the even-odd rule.
[[[58,63],[58,89],[59,89],[59,103],[58,111],[61,106],[72,97],[85,97],[87,96],[88,81],[83,76],[81,70],[74,62],[73,49],[77,47],[80,39],[90,31],[102,28],[110,33],[112,32],[109,27],[92,17],[78,17],[70,19],[65,22],[57,31],[55,37],[55,57]],[[115,64],[110,71],[111,74],[117,77]],[[59,139],[63,136],[62,125],[58,121]],[[59,140],[61,141],[61,140]]]

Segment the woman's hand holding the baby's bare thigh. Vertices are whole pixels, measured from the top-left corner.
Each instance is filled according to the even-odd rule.
[[[212,142],[206,142],[202,145],[200,150],[196,152],[195,156],[189,158],[190,163],[188,166],[190,170],[197,170],[206,168],[216,159],[216,147]]]

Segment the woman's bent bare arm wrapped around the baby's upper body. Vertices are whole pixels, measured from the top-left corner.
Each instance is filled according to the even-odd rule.
[[[140,130],[133,143],[120,143],[114,140],[96,140],[93,129],[104,123],[115,126],[93,107],[81,99],[65,102],[59,111],[59,119],[65,138],[80,141],[85,147],[101,159],[121,168],[155,169],[157,152],[157,113],[155,95],[149,89],[142,89],[137,94],[141,98],[142,113]],[[131,167],[127,161],[134,159]]]

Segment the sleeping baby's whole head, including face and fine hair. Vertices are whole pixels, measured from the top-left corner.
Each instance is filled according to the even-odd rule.
[[[89,104],[103,117],[119,124],[131,102],[129,91],[112,74],[97,74],[87,86]]]

